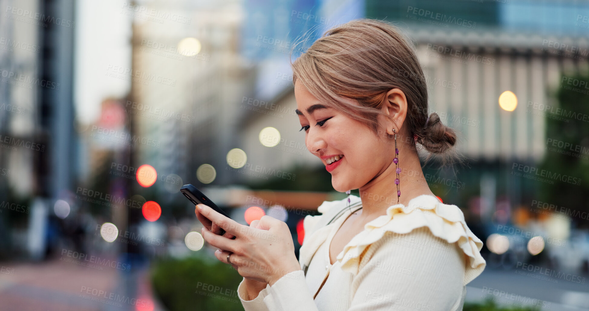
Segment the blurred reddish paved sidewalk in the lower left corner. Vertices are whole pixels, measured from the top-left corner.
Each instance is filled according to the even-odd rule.
[[[60,260],[0,263],[0,269],[3,311],[166,311],[154,303],[147,269],[124,273]]]

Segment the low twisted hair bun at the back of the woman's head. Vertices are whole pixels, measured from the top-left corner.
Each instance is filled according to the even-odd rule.
[[[456,132],[441,122],[437,113],[429,115],[419,143],[431,153],[444,153],[454,147]]]

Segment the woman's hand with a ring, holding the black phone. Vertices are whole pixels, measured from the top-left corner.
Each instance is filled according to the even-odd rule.
[[[241,276],[272,286],[284,274],[301,270],[294,256],[292,235],[283,221],[264,215],[254,228],[224,217],[207,205],[198,204],[198,208],[202,208],[200,214],[205,218],[236,236],[231,240],[207,227],[202,230],[204,240],[223,250],[215,253],[219,261],[227,263],[227,254],[233,253],[229,260]]]

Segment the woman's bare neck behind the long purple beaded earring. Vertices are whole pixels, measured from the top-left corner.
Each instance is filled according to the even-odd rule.
[[[402,152],[402,150],[400,150]],[[416,150],[399,152],[399,189],[401,197],[399,204],[407,206],[409,201],[419,195],[434,195],[429,189],[428,183],[423,176],[421,163]],[[366,218],[385,215],[386,209],[397,204],[397,185],[395,185],[396,165],[391,164],[380,172],[375,178],[362,186],[360,199],[362,199],[362,215]]]

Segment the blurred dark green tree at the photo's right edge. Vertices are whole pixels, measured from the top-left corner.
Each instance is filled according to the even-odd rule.
[[[546,110],[546,155],[540,165],[554,181],[540,182],[538,201],[562,207],[561,212],[587,225],[589,212],[589,75],[562,76],[556,91],[558,107]],[[576,86],[575,86],[576,85]],[[542,171],[540,171],[542,172]],[[585,215],[581,218],[581,215]]]

